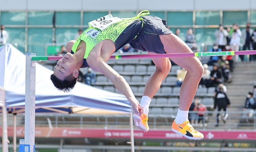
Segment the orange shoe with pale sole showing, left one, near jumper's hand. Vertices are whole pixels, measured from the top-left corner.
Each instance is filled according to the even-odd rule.
[[[142,113],[141,116],[138,116],[135,113],[133,114],[134,125],[145,132],[149,131],[149,125],[147,124],[148,119],[149,117],[144,113]]]

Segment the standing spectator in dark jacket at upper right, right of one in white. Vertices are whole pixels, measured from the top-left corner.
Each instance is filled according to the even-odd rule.
[[[248,22],[246,24],[246,28],[242,30],[242,36],[241,36],[241,41],[243,44],[243,50],[251,50],[252,49],[252,41],[251,41],[251,36],[253,33],[253,29],[251,28],[251,24]],[[241,60],[244,60],[244,55],[239,55]],[[252,60],[252,55],[250,55],[249,60]]]

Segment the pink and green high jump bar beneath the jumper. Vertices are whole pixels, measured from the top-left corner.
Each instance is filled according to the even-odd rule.
[[[223,55],[254,55],[256,50],[247,51],[222,51],[222,52],[198,52],[198,53],[166,53],[166,54],[142,54],[142,55],[111,55],[109,59],[121,58],[163,58],[163,57],[207,57]],[[31,60],[60,60],[62,56],[34,56]]]

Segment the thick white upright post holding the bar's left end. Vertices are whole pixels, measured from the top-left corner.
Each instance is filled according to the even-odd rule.
[[[25,145],[29,152],[34,152],[35,107],[36,107],[36,61],[31,57],[36,54],[26,54],[26,83],[25,83]]]

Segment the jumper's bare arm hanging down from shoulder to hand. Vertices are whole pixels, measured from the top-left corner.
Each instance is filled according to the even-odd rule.
[[[123,76],[114,71],[114,69],[112,69],[103,60],[102,56],[98,55],[98,53],[95,53],[95,51],[91,51],[86,61],[94,71],[101,72],[113,82],[116,89],[125,95],[125,97],[131,102],[134,113],[137,115],[141,115],[143,113],[143,108],[135,98],[131,87],[125,81]]]

